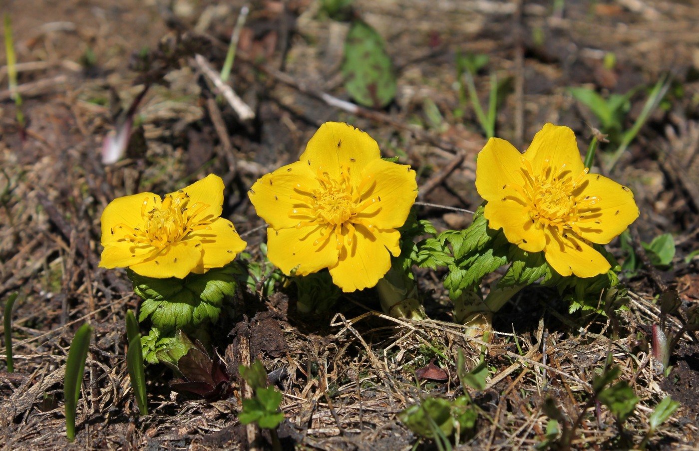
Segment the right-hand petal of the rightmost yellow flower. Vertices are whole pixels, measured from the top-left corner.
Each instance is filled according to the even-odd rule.
[[[638,217],[638,207],[633,193],[603,175],[588,174],[582,184],[582,196],[596,196],[598,202],[584,213],[584,221],[577,225],[580,236],[593,243],[607,244],[624,232]]]

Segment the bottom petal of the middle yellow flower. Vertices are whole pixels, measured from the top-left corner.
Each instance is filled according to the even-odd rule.
[[[333,283],[345,293],[371,288],[391,268],[389,251],[398,256],[401,249],[397,230],[376,230],[369,232],[357,225],[354,246],[343,247],[338,263],[330,268]]]

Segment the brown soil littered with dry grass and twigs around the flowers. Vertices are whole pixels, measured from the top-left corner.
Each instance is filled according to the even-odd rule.
[[[218,101],[206,76],[224,63],[240,8],[240,34],[229,85],[254,118]],[[466,387],[479,409],[464,449],[694,449],[699,441],[699,342],[679,340],[667,377],[651,356],[651,326],[677,332],[699,302],[699,1],[355,0],[387,41],[398,92],[384,110],[348,112],[322,100],[352,101],[340,64],[349,22],[322,13],[319,0],[8,1],[21,106],[0,91],[0,299],[20,293],[11,314],[15,372],[0,362],[0,434],[6,449],[266,449],[268,431],[238,421],[245,385],[238,364],[263,362],[283,394],[285,449],[436,449],[398,418],[428,395],[463,394],[458,350],[469,367],[482,349],[484,390]],[[4,47],[3,47],[4,48]],[[630,187],[640,207],[636,242],[671,233],[671,265],[645,265],[622,279],[626,309],[612,318],[569,314],[554,290],[531,289],[495,318],[484,348],[451,321],[444,272],[417,269],[431,320],[396,320],[371,291],[342,298],[329,313],[300,313],[294,290],[279,284],[240,289],[230,313],[210,332],[226,374],[218,397],[178,392],[161,365],[147,367],[150,414],[138,415],[129,385],[124,318],[139,298],[123,270],[98,267],[100,215],[127,194],[175,191],[208,173],[226,184],[223,216],[263,256],[264,224],[247,198],[257,178],[296,161],[325,121],[346,121],[400,156],[418,173],[419,217],[438,230],[464,228],[475,210],[475,156],[486,138],[470,105],[460,105],[456,59],[487,54],[475,76],[487,104],[491,74],[503,82],[496,135],[526,149],[546,122],[572,128],[581,151],[599,119],[568,87],[630,96],[624,131],[642,114],[651,87],[671,84],[619,163],[600,143],[593,172]],[[7,55],[0,82],[8,86]],[[196,57],[201,55],[201,57]],[[202,58],[204,63],[201,62]],[[144,87],[148,89],[144,94]],[[136,126],[127,155],[105,165],[103,139],[134,100]],[[327,98],[327,97],[325,97]],[[426,101],[434,103],[435,115]],[[20,123],[18,114],[24,117]],[[619,241],[609,246],[623,261]],[[643,254],[642,246],[637,246]],[[647,260],[647,259],[646,259]],[[679,308],[661,313],[663,293]],[[336,316],[336,313],[338,315]],[[355,318],[345,322],[345,318]],[[78,434],[66,439],[65,360],[78,327],[94,327],[78,402]],[[7,324],[7,323],[6,323]],[[471,344],[469,344],[471,343]],[[590,404],[590,381],[607,356],[639,398],[628,420]],[[429,365],[432,364],[433,367]],[[435,368],[436,367],[436,368]],[[415,378],[415,370],[438,378]],[[443,380],[447,375],[447,380]],[[417,384],[417,385],[416,385]],[[215,383],[214,383],[215,385]],[[678,410],[648,435],[661,399]],[[561,434],[547,436],[547,399]],[[572,431],[565,441],[565,431]],[[453,443],[453,442],[452,442]]]

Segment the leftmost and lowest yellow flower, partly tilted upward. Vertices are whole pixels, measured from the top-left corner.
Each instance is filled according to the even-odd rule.
[[[102,213],[100,267],[128,267],[146,277],[178,277],[230,263],[245,249],[221,216],[224,184],[209,175],[165,195],[117,198]]]

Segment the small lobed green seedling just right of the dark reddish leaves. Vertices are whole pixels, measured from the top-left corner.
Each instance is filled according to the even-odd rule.
[[[254,392],[252,398],[243,399],[243,411],[238,415],[238,420],[242,424],[254,422],[262,429],[269,429],[274,450],[281,450],[277,427],[284,420],[284,413],[279,411],[282,393],[274,387],[267,387],[267,372],[259,360],[255,360],[250,367],[240,365],[238,371]]]

